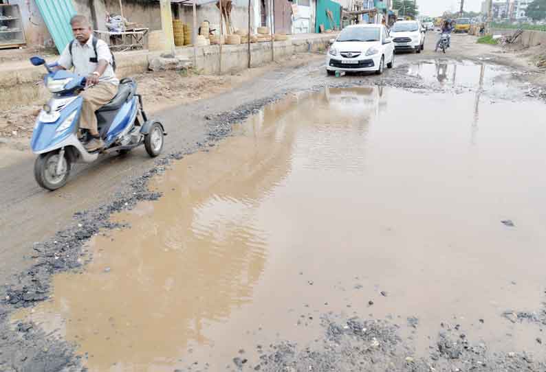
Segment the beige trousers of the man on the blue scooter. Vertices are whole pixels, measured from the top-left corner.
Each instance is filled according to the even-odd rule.
[[[83,98],[80,129],[87,129],[91,133],[98,132],[95,111],[110,102],[116,93],[118,86],[109,82],[99,82],[80,93]]]

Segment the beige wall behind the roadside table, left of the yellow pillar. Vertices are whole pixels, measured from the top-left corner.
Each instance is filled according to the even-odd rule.
[[[136,22],[150,30],[161,30],[159,1],[123,0],[123,16],[129,22]],[[110,14],[120,14],[119,0],[105,0],[106,10]]]

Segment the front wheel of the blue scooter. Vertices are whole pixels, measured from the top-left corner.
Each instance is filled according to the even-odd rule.
[[[54,191],[67,183],[70,174],[70,161],[66,155],[63,156],[61,174],[58,174],[58,160],[58,152],[47,152],[47,154],[40,154],[34,161],[34,178],[36,178],[38,185],[44,189]]]

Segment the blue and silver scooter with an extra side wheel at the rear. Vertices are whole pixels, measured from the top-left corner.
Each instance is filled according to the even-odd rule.
[[[148,119],[142,107],[142,96],[131,78],[120,81],[118,93],[96,111],[98,131],[105,141],[105,148],[98,152],[87,152],[78,130],[82,98],[78,95],[85,89],[85,77],[69,71],[53,71],[57,64],[47,65],[43,58],[30,58],[34,66],[45,65],[47,75],[44,83],[53,97],[43,106],[32,132],[30,146],[38,158],[34,163],[34,178],[43,188],[55,190],[67,183],[72,164],[92,163],[100,153],[124,154],[144,144],[152,157],[163,149],[166,132],[163,125]]]

